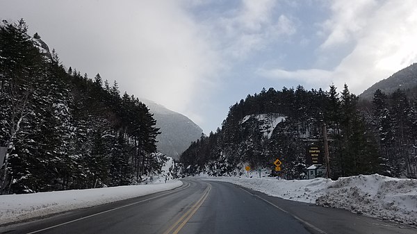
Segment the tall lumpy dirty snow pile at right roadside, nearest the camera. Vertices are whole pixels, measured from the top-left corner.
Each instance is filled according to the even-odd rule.
[[[316,203],[417,225],[417,180],[379,175],[340,178]]]

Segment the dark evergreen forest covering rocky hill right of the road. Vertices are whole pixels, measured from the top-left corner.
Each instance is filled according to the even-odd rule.
[[[237,167],[270,168],[276,158],[286,178],[305,178],[306,148],[322,147],[322,126],[327,126],[331,177],[379,173],[417,177],[416,101],[398,90],[390,97],[375,93],[371,109],[347,85],[337,92],[284,87],[270,88],[231,106],[216,133],[202,136],[181,155],[185,174],[237,174]],[[284,116],[270,136],[263,134],[263,118]]]

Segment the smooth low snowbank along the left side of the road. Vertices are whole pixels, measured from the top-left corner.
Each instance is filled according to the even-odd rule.
[[[152,185],[1,195],[0,224],[141,197],[147,194],[172,190],[180,187],[182,184],[181,181],[169,181],[168,183]]]

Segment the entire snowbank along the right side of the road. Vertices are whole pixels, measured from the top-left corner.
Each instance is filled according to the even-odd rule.
[[[252,177],[256,177],[254,174]],[[350,176],[337,181],[315,178],[286,181],[277,178],[208,177],[293,201],[343,208],[370,217],[417,226],[417,180],[380,176]]]

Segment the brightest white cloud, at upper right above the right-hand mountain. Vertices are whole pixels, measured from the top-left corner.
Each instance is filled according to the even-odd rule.
[[[417,2],[334,1],[332,18],[325,22],[328,34],[318,61],[352,43],[352,51],[329,70],[260,70],[268,78],[293,78],[314,87],[334,83],[360,94],[394,72],[417,62]]]

